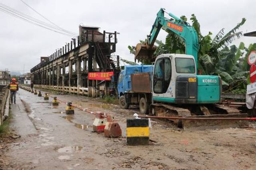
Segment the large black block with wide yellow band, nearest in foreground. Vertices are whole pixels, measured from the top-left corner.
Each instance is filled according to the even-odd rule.
[[[126,138],[128,145],[148,145],[148,119],[127,119]]]

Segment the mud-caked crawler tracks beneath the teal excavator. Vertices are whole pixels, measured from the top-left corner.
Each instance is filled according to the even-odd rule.
[[[193,108],[194,107],[194,108]],[[197,110],[196,112],[194,112]],[[199,111],[198,111],[199,110]],[[247,113],[240,113],[240,110],[220,104],[189,105],[179,107],[167,104],[150,105],[150,115],[169,117],[248,117]],[[230,127],[248,127],[248,121],[244,120],[172,120],[177,127],[196,130],[219,129]]]

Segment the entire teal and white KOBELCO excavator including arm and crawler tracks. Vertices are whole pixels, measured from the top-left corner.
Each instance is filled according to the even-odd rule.
[[[164,17],[165,13],[171,19]],[[164,8],[157,13],[150,34],[147,35],[146,43],[136,45],[135,60],[149,59],[152,61],[154,59],[153,53],[156,50],[154,42],[161,29],[170,30],[182,37],[186,52],[185,54],[162,54],[156,57],[150,78],[150,96],[149,93],[143,94],[145,97],[142,94],[138,95],[140,96],[138,101],[146,98],[143,100],[144,103],[140,102],[140,112],[189,117],[244,116],[238,109],[218,104],[221,102],[220,76],[197,75],[199,42],[196,30],[186,21],[166,12]],[[135,76],[136,74],[131,75],[132,79],[136,79]],[[136,80],[142,80],[142,78]],[[142,82],[146,84],[146,81]],[[131,83],[136,84],[136,82]],[[135,88],[132,87],[133,89]],[[127,96],[133,98],[135,94],[126,93],[125,101],[128,101]],[[218,125],[218,122],[215,123]]]

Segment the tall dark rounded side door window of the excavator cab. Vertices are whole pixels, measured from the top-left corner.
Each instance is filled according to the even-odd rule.
[[[156,61],[153,76],[154,93],[165,93],[172,77],[171,61],[168,57],[160,58]]]

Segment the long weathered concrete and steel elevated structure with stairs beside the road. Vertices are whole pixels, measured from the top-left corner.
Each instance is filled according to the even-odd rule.
[[[34,87],[96,97],[97,85],[101,83],[107,92],[110,81],[91,80],[88,75],[113,72],[113,79],[117,80],[119,56],[114,52],[118,33],[99,30],[99,27],[80,26],[77,38],[52,55],[41,57],[41,62],[30,70]]]

